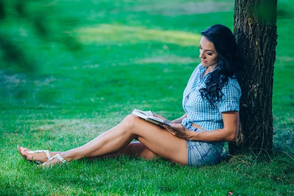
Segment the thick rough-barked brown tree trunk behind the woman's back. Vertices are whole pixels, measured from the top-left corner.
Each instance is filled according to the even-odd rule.
[[[234,27],[242,68],[240,131],[230,153],[272,149],[272,84],[277,45],[277,0],[235,0]]]

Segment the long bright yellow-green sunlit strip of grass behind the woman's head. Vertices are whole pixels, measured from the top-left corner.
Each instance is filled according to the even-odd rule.
[[[185,31],[109,24],[79,27],[74,30],[74,33],[84,44],[109,42],[136,44],[153,41],[179,46],[197,46],[201,39],[201,35]]]

